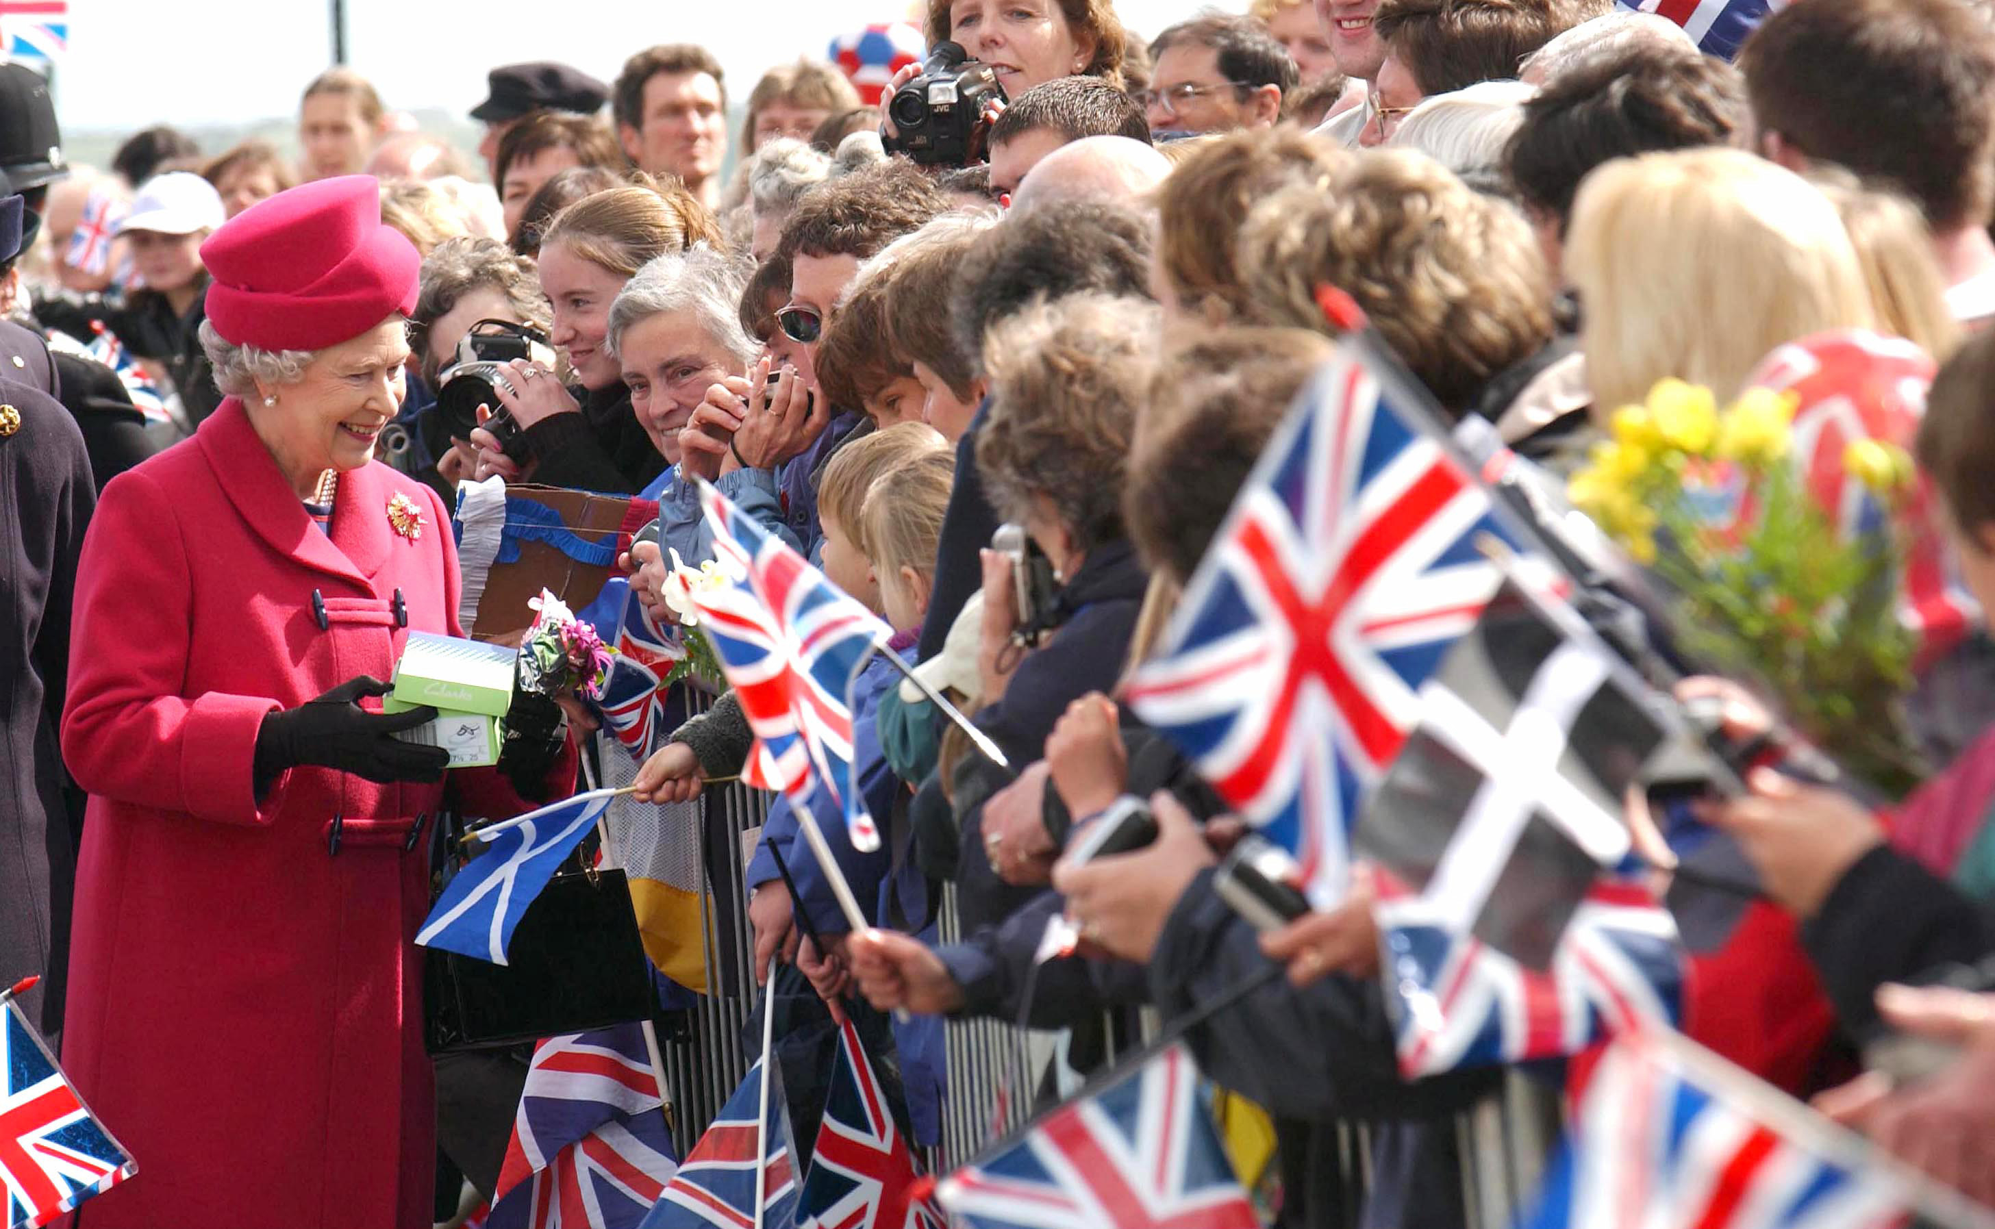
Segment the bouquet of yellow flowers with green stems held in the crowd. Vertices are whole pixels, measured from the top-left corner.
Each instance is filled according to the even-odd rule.
[[[1923,764],[1903,720],[1917,636],[1901,618],[1911,457],[1857,437],[1841,471],[1863,491],[1839,517],[1790,457],[1796,397],[1662,381],[1616,411],[1568,487],[1672,591],[1678,648],[1756,682],[1797,730],[1891,798]]]

